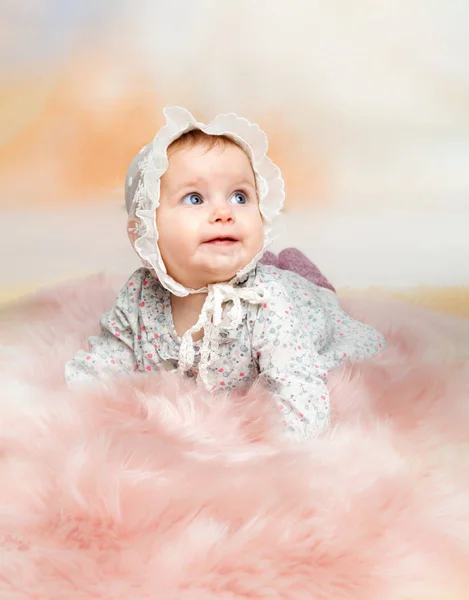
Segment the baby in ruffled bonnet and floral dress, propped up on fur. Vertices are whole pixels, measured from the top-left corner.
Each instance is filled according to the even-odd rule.
[[[208,125],[183,108],[164,114],[126,181],[129,237],[144,266],[66,380],[177,369],[215,392],[261,379],[287,428],[313,437],[328,424],[328,372],[385,341],[331,290],[259,262],[284,202],[259,127],[234,114]]]

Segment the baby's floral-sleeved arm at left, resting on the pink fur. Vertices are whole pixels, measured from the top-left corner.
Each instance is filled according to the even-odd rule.
[[[138,274],[138,271],[137,271]],[[100,333],[89,338],[89,350],[80,350],[65,365],[67,384],[111,378],[137,369],[134,354],[137,326],[138,276],[120,291],[114,307],[100,320]]]

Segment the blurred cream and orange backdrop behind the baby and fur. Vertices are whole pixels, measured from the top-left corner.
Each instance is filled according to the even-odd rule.
[[[3,297],[138,265],[126,167],[180,104],[267,131],[276,248],[339,288],[463,298],[467,0],[2,0],[0,31]]]

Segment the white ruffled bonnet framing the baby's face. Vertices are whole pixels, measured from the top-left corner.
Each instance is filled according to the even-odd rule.
[[[256,265],[271,241],[272,222],[280,213],[285,198],[284,183],[279,168],[267,157],[267,136],[258,125],[235,114],[222,114],[208,125],[197,122],[189,111],[181,107],[164,110],[166,125],[151,143],[144,146],[132,160],[126,176],[125,203],[129,221],[136,234],[134,248],[144,265],[150,267],[160,283],[176,296],[205,290],[184,287],[168,275],[158,248],[156,209],[160,201],[160,179],[168,168],[167,149],[182,134],[200,129],[208,135],[223,135],[244,149],[251,159],[256,176],[259,207],[264,218],[264,247],[258,256],[233,282],[243,277]]]

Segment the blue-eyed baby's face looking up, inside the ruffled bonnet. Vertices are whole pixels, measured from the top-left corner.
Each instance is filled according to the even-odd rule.
[[[156,211],[169,275],[198,289],[229,281],[260,252],[264,227],[251,163],[238,146],[169,156]]]

